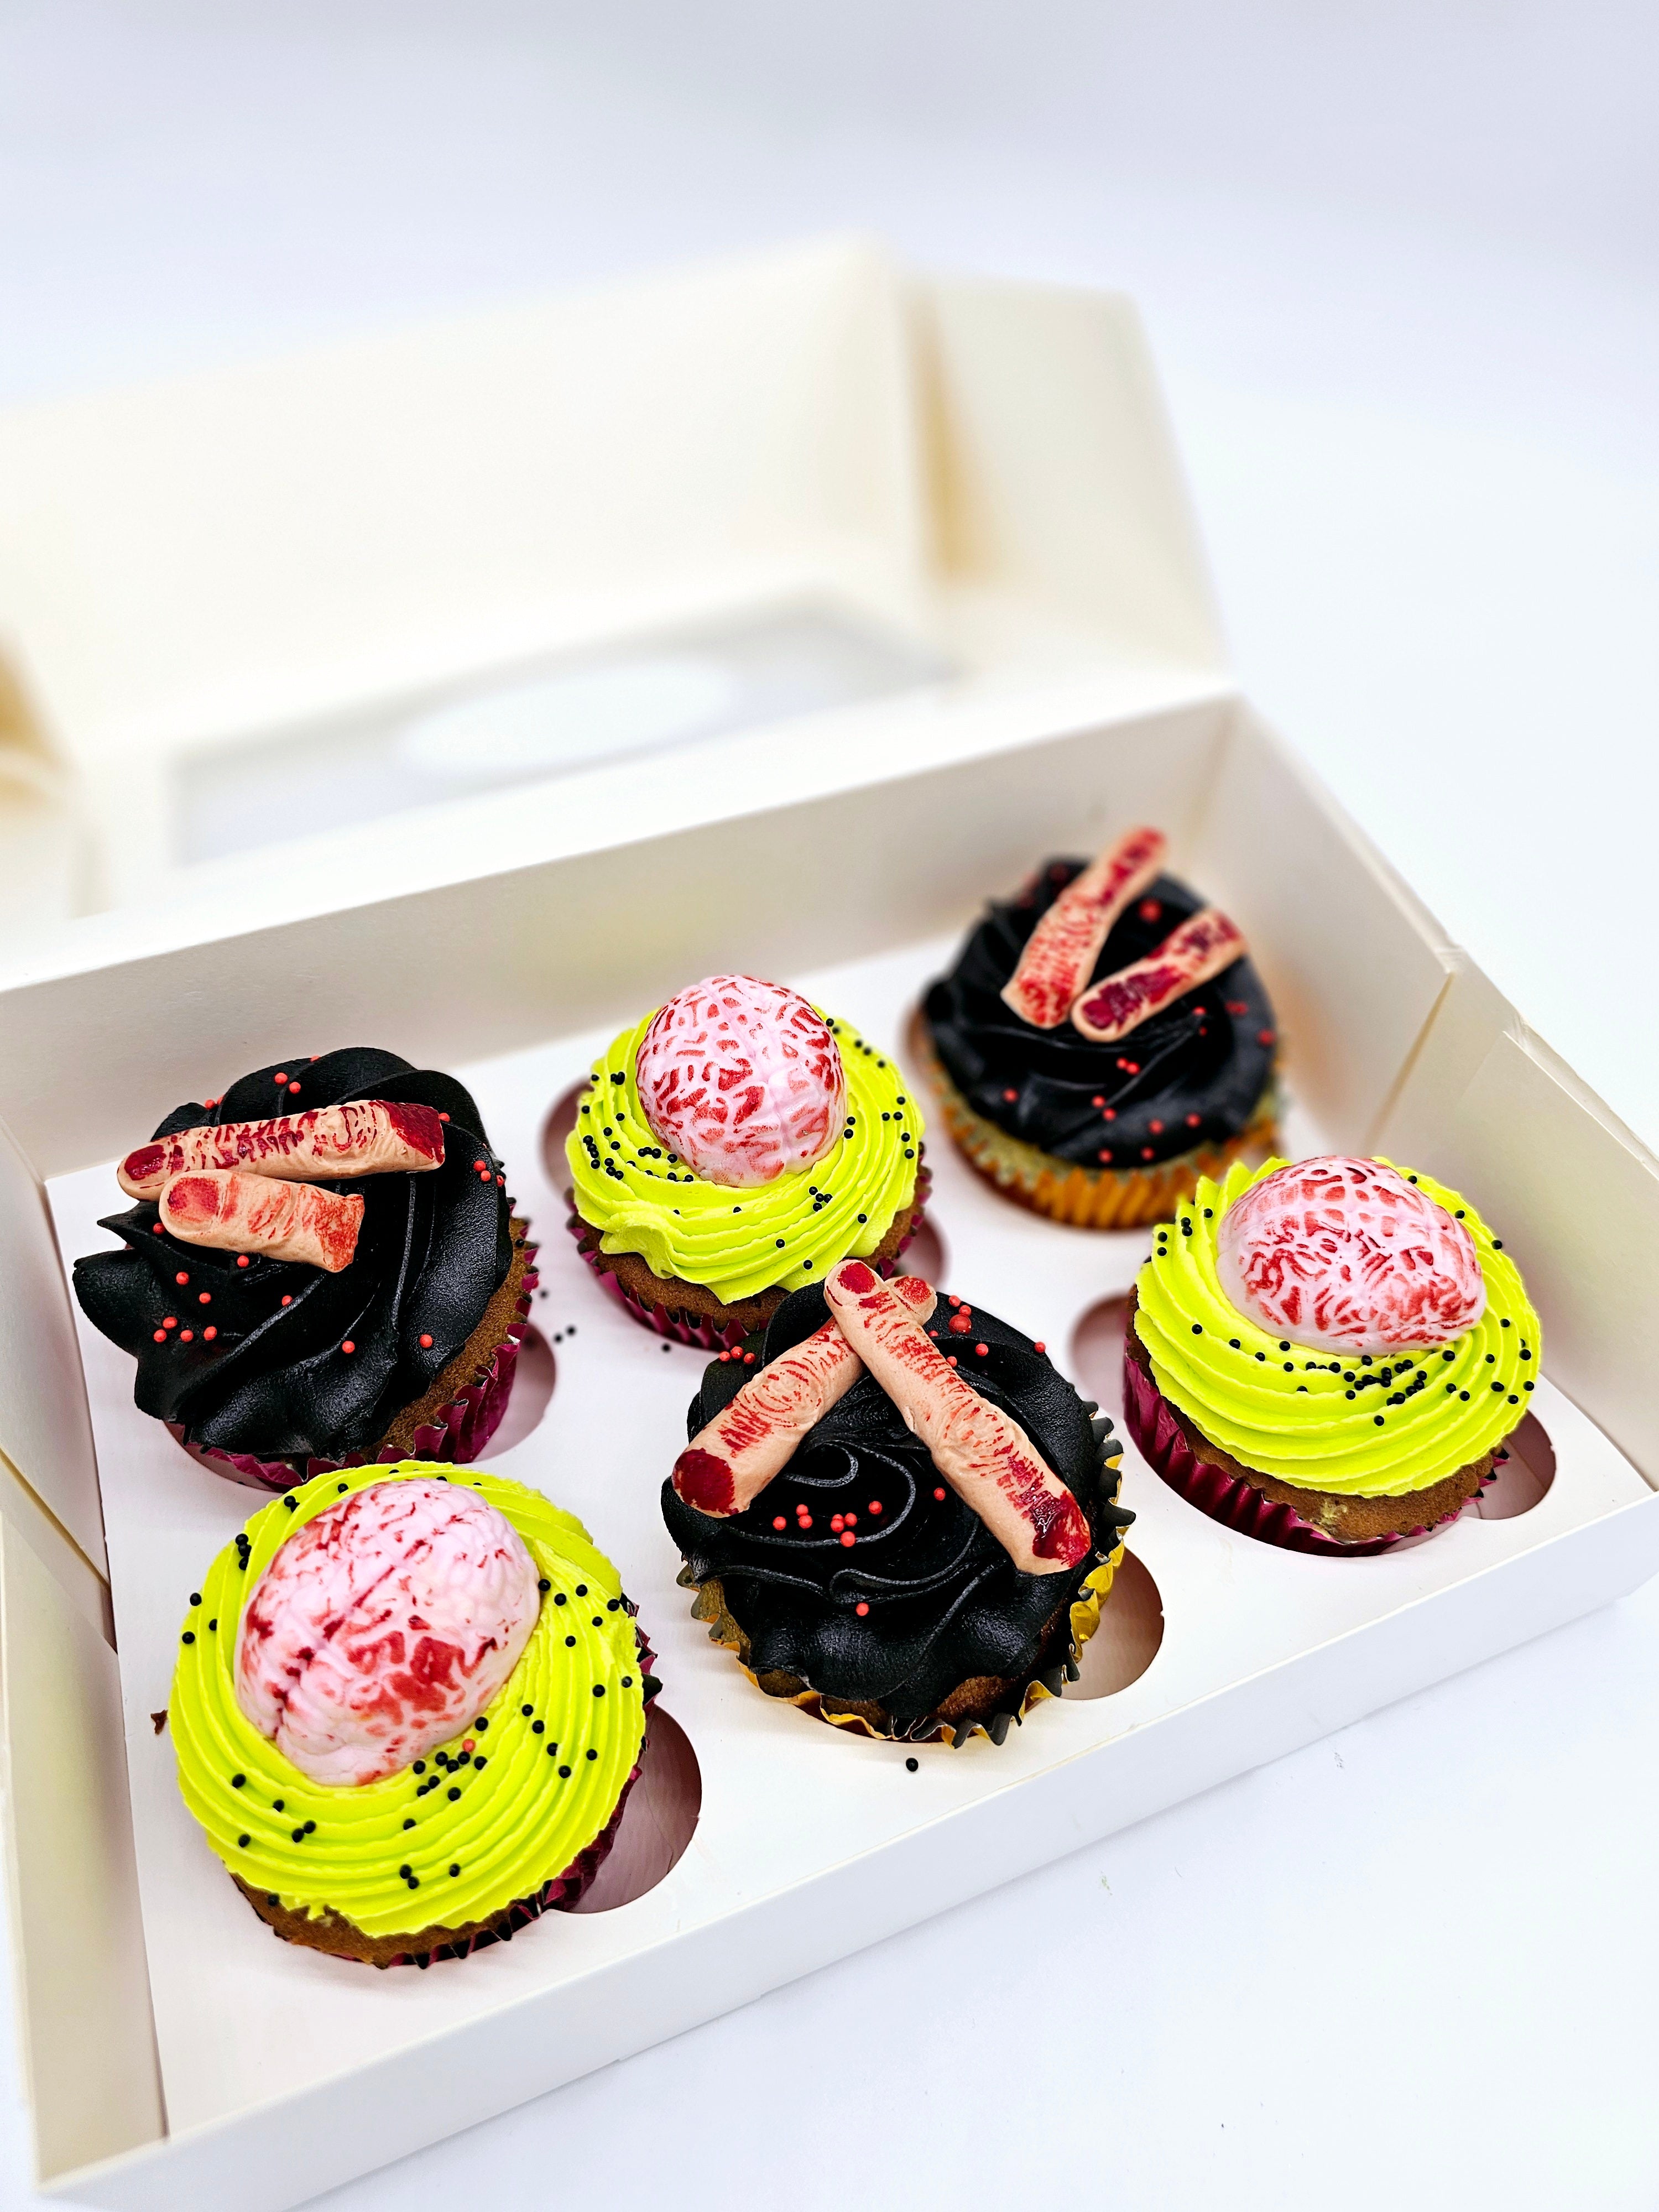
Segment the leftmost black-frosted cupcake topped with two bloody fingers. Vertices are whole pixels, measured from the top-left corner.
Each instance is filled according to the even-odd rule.
[[[458,1082],[369,1048],[288,1060],[179,1106],[115,1172],[135,1203],[100,1228],[122,1250],[77,1259],[75,1296],[204,1464],[288,1489],[478,1458],[535,1248]]]

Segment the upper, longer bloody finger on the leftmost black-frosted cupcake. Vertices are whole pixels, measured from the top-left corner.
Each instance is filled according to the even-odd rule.
[[[173,1175],[192,1168],[239,1168],[281,1175],[290,1183],[332,1183],[356,1175],[418,1175],[440,1168],[442,1119],[431,1106],[396,1099],[352,1099],[314,1106],[270,1121],[226,1121],[181,1128],[142,1144],[115,1170],[131,1199],[155,1199]]]

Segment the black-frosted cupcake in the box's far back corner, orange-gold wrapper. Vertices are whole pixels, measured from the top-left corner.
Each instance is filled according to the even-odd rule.
[[[1276,1026],[1245,940],[1133,830],[991,905],[922,1004],[945,1126],[1051,1221],[1164,1219],[1276,1141]]]

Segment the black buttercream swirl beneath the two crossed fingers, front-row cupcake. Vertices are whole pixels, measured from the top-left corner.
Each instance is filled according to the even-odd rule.
[[[823,1290],[796,1290],[750,1349],[774,1360],[830,1318]],[[1024,1575],[984,1522],[942,1482],[927,1447],[905,1427],[874,1376],[860,1376],[796,1447],[794,1458],[730,1520],[697,1513],[664,1482],[668,1533],[692,1582],[719,1577],[732,1619],[750,1639],[757,1674],[792,1674],[823,1697],[878,1703],[896,1736],[929,1734],[940,1701],[960,1683],[993,1674],[1024,1686],[1068,1648],[1068,1610],[1084,1577],[1117,1546],[1130,1513],[1117,1506],[1117,1467],[1102,1469],[1110,1422],[1095,1411],[1029,1336],[973,1307],[973,1334],[947,1329],[940,1298],[929,1332],[960,1347],[960,1374],[1000,1405],[1077,1498],[1095,1537],[1082,1566]],[[980,1358],[973,1345],[984,1345]],[[703,1369],[686,1436],[719,1413],[757,1367],[741,1360]],[[933,1495],[945,1489],[945,1498]],[[796,1524],[796,1504],[812,1528]],[[869,1511],[880,1502],[880,1515]],[[858,1515],[856,1544],[830,1528]],[[772,1522],[783,1515],[785,1526]],[[869,1606],[860,1619],[858,1601]],[[1006,1725],[1006,1723],[1004,1723]]]

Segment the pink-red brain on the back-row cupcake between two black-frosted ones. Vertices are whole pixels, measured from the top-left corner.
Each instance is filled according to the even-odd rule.
[[[732,1190],[816,1166],[847,1110],[841,1046],[823,1015],[754,975],[677,991],[644,1035],[635,1082],[659,1144]]]

